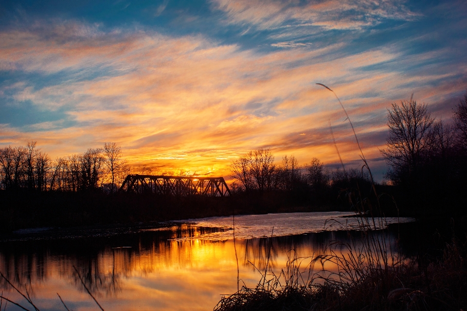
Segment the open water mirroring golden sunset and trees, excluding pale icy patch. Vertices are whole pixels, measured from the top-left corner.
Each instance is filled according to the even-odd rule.
[[[181,224],[104,237],[2,242],[0,270],[27,287],[44,310],[63,310],[57,292],[73,310],[95,310],[79,276],[104,309],[212,310],[220,294],[236,291],[233,241],[196,239],[216,230],[228,229]],[[254,286],[268,255],[269,269],[277,271],[290,250],[316,256],[330,241],[357,241],[360,235],[333,231],[237,240],[240,278]],[[395,248],[395,235],[388,237]],[[0,287],[20,301],[4,280]]]

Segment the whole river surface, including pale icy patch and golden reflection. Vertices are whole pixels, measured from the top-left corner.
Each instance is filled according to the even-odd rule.
[[[359,232],[346,231],[356,228],[357,219],[346,215],[351,213],[236,216],[235,245],[232,217],[162,228],[18,232],[0,242],[0,271],[27,289],[40,310],[65,310],[57,293],[69,309],[98,310],[83,282],[105,310],[212,310],[221,294],[236,292],[235,248],[240,285],[254,286],[268,255],[268,267],[279,271],[293,252],[316,256],[330,241],[358,240]],[[387,238],[395,248],[391,230]],[[0,287],[5,297],[32,309],[5,281]],[[20,309],[8,304],[7,310]]]

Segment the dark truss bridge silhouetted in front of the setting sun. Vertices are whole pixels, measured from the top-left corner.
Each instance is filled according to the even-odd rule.
[[[128,175],[119,191],[160,195],[230,196],[224,177]]]

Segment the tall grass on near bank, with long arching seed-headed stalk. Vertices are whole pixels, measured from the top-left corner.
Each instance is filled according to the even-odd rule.
[[[384,233],[375,234],[385,220],[370,167],[339,97],[318,85],[333,92],[341,104],[359,147],[361,170],[366,169],[371,178],[372,198],[363,197],[358,184],[356,189],[342,190],[356,211],[361,242],[331,242],[324,254],[309,258],[306,269],[301,267],[306,259],[292,250],[278,275],[268,276],[266,270],[255,288],[243,286],[224,295],[214,310],[467,310],[466,242],[453,238],[442,259],[422,267],[416,260],[403,260],[399,251],[393,253]],[[317,263],[322,269],[315,272]],[[326,270],[326,264],[334,271]]]

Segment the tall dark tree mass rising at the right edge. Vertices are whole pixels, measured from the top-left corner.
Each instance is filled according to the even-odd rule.
[[[467,93],[447,121],[427,104],[402,101],[388,109],[386,147],[380,152],[398,195],[420,208],[465,212]]]

